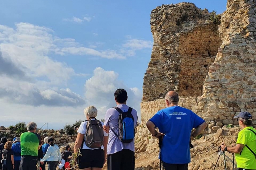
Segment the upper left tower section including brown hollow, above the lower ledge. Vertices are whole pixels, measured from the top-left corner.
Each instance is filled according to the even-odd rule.
[[[210,13],[192,3],[158,6],[151,12],[154,44],[144,76],[143,101],[175,90],[182,96],[201,96],[203,81],[221,45],[218,24]]]

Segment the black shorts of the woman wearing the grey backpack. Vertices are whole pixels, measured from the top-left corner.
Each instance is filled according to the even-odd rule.
[[[79,169],[85,168],[102,168],[104,164],[104,150],[103,149],[82,149],[80,150],[82,156],[78,158]]]

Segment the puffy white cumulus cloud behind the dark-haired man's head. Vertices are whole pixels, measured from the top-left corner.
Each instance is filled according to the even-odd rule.
[[[142,91],[138,88],[127,88],[122,81],[118,80],[118,73],[97,67],[84,87],[86,103],[95,105],[103,117],[107,109],[116,105],[114,98],[116,89],[125,89],[128,95],[127,105],[137,110],[140,117]]]

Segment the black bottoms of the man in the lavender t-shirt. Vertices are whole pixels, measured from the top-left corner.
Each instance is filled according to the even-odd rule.
[[[108,170],[134,170],[134,152],[129,149],[108,155]]]

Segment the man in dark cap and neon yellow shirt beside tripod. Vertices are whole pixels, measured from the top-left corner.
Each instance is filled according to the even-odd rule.
[[[238,133],[236,145],[227,147],[223,142],[221,151],[236,154],[237,170],[256,170],[256,130],[252,127],[252,115],[243,111],[234,118],[242,130]]]

